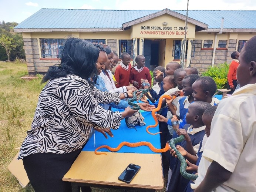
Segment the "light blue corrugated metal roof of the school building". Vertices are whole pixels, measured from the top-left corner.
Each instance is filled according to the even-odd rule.
[[[123,23],[160,10],[75,10],[41,9],[15,28],[121,28]],[[184,10],[174,10],[186,15]],[[256,28],[256,11],[189,10],[188,17],[208,24],[208,28]]]

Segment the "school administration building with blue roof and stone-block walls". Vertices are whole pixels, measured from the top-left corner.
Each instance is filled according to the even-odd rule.
[[[68,37],[108,44],[119,56],[144,55],[151,70],[180,62],[183,55],[185,67],[202,72],[230,63],[230,54],[256,35],[256,11],[190,10],[187,27],[185,20],[183,10],[41,9],[14,31],[23,35],[30,74],[45,73],[60,63],[58,54]]]

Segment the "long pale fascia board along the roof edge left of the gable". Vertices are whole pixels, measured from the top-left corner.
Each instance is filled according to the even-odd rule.
[[[14,32],[111,32],[123,31],[123,28],[14,28]]]

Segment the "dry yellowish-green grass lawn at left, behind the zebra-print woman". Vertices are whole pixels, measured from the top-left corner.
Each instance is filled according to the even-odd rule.
[[[21,188],[7,166],[17,154],[30,129],[38,96],[45,84],[38,79],[23,80],[27,65],[0,62],[0,191],[33,192],[31,185]],[[123,192],[119,189],[92,188],[93,192]],[[158,190],[164,192],[165,190]]]

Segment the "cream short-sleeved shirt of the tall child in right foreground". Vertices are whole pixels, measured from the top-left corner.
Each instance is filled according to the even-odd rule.
[[[199,177],[191,188],[202,182],[215,161],[232,172],[228,181],[216,188],[217,192],[256,191],[255,138],[256,84],[247,84],[220,101],[199,163]]]

